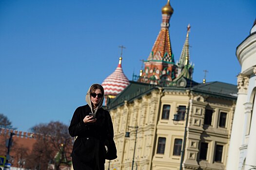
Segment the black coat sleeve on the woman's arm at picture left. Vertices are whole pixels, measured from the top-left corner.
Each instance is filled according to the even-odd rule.
[[[83,119],[80,118],[80,114],[79,108],[77,108],[71,119],[68,131],[72,137],[78,136],[81,132],[88,130],[88,126],[83,122]]]

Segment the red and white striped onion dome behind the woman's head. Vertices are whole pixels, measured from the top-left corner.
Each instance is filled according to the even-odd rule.
[[[121,66],[122,57],[119,57],[119,63],[116,70],[110,74],[102,83],[104,88],[104,95],[118,95],[130,83],[123,73]]]

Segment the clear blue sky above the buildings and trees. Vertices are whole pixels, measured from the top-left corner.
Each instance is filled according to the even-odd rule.
[[[131,80],[160,31],[167,0],[0,0],[0,113],[18,130],[59,120],[85,104],[93,83],[118,65]],[[249,35],[256,0],[171,0],[175,61],[191,24],[194,80],[236,84],[236,47]]]

